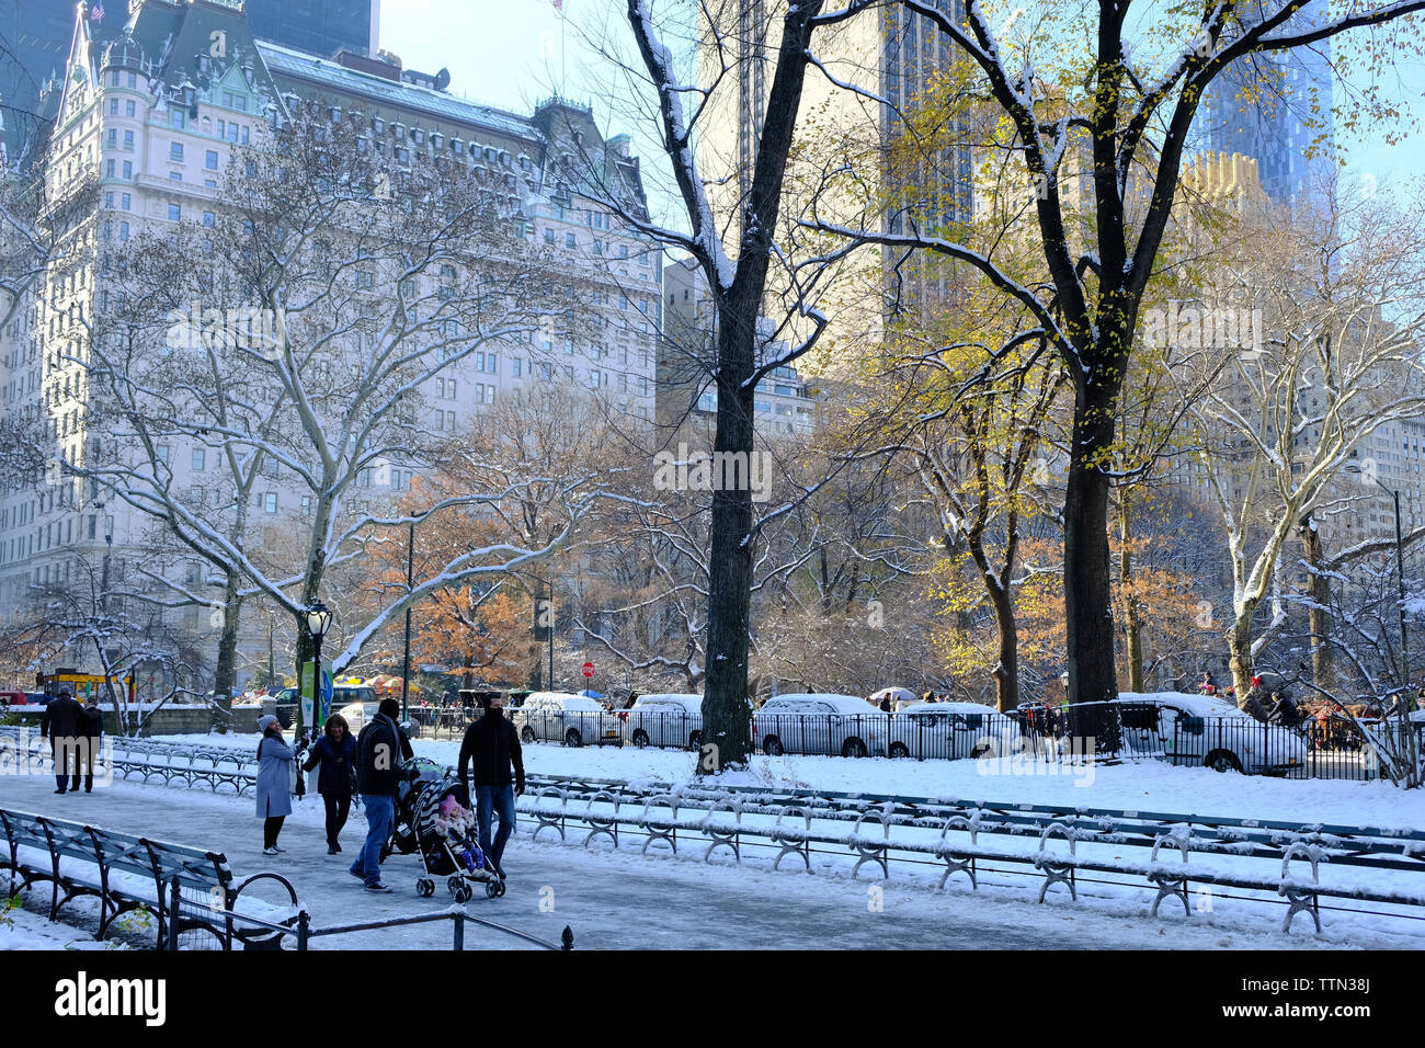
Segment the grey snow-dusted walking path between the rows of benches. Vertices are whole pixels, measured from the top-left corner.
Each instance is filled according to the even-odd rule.
[[[51,793],[53,779],[6,777],[0,804],[63,818],[78,818],[128,833],[211,847],[227,853],[239,877],[259,870],[282,873],[298,887],[318,927],[432,913],[449,907],[443,885],[432,900],[418,898],[419,871],[412,856],[386,865],[390,895],[370,895],[346,874],[365,830],[358,817],[343,834],[346,851],[328,857],[321,810],[311,801],[282,833],[288,851],[261,854],[261,823],[251,800],[217,797],[204,790],[115,783],[88,796]],[[566,924],[576,948],[1312,948],[1352,945],[1324,941],[1298,928],[1291,935],[1243,931],[1228,920],[1194,914],[1153,920],[1147,895],[1133,903],[1080,905],[1067,898],[1033,903],[1027,884],[1012,894],[970,891],[952,881],[943,893],[916,884],[884,888],[842,877],[755,867],[720,867],[687,857],[641,857],[626,844],[586,850],[580,837],[569,844],[530,841],[529,826],[510,841],[506,868],[509,894],[477,895],[469,910],[547,940]],[[878,913],[872,904],[879,900]],[[31,905],[34,905],[31,903]],[[551,907],[551,908],[550,908]],[[1280,917],[1277,918],[1280,920]],[[1330,937],[1330,935],[1328,935]],[[516,940],[473,927],[469,948],[519,947]],[[1414,945],[1405,935],[1369,935],[1369,945]],[[361,933],[318,940],[318,948],[449,948],[450,925]]]

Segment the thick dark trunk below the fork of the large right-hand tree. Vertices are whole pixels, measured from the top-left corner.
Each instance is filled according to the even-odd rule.
[[[1119,694],[1113,663],[1113,589],[1109,577],[1109,475],[1114,415],[1112,395],[1080,396],[1074,406],[1069,482],[1064,492],[1064,625],[1069,702],[1112,703]],[[1114,706],[1070,707],[1070,731],[1117,751]]]

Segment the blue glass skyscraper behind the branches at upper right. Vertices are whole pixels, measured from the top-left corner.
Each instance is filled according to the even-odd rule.
[[[1288,24],[1304,29],[1324,10],[1321,0],[1314,0]],[[1253,13],[1248,6],[1241,17],[1250,26],[1260,10]],[[1330,41],[1321,41],[1233,63],[1203,96],[1194,147],[1198,153],[1253,157],[1261,185],[1275,202],[1310,204],[1330,170],[1332,133],[1331,53]]]

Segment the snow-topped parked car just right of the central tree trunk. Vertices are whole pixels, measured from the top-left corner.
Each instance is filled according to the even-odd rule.
[[[752,714],[752,741],[762,753],[886,756],[891,717],[854,694],[778,694]]]

